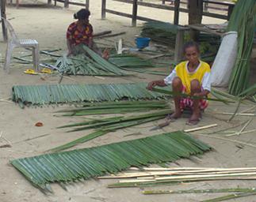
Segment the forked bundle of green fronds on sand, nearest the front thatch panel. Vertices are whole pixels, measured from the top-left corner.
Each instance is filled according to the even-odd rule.
[[[96,129],[95,132],[90,133],[84,137],[80,137],[67,144],[60,145],[57,148],[52,148],[51,151],[62,151],[67,148],[74,147],[77,144],[84,143],[94,138],[101,137],[106,133],[116,131],[117,129],[124,129],[133,125],[140,125],[147,122],[153,122],[162,118],[165,118],[167,114],[170,114],[170,109],[161,110],[158,112],[151,112],[139,115],[132,115],[128,117],[110,117],[110,118],[95,118],[88,122],[79,122],[70,125],[63,125],[59,128],[76,127],[69,132],[82,131],[86,129]]]

